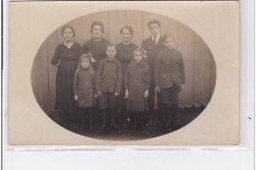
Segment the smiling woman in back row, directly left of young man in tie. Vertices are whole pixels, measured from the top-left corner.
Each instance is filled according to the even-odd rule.
[[[123,68],[123,75],[127,70],[128,65],[131,62],[133,57],[133,51],[138,48],[133,42],[131,42],[131,38],[133,36],[133,28],[130,26],[125,26],[121,28],[120,35],[122,36],[122,41],[116,45],[117,55],[116,58],[120,60]],[[124,80],[124,79],[123,79]],[[122,114],[124,119],[128,119],[126,113],[126,102],[124,101],[124,86],[122,87],[122,91],[118,97],[117,102],[117,113]]]

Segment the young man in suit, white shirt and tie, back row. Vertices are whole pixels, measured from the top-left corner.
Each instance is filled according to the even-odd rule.
[[[155,60],[158,52],[162,49],[162,37],[160,36],[160,22],[157,20],[150,21],[148,23],[151,36],[143,40],[142,48],[147,51],[148,62],[151,70],[151,86],[149,94],[149,109],[151,119],[146,126],[150,126],[153,120],[157,117],[157,110],[154,109],[154,96],[155,96],[155,84],[154,84],[154,67]],[[159,102],[160,103],[160,102]]]

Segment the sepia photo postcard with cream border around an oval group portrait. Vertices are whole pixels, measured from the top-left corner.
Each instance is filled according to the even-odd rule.
[[[238,2],[10,2],[10,145],[239,144]]]

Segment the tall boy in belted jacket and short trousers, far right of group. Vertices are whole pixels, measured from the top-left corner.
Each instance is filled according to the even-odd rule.
[[[185,84],[184,64],[181,53],[174,46],[171,33],[163,34],[163,46],[157,56],[154,78],[156,91],[160,92],[161,109],[165,115],[165,129],[171,123],[172,115],[179,120],[177,113],[178,93]]]

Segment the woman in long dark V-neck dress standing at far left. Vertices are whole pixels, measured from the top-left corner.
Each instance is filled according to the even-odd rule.
[[[74,111],[73,80],[81,45],[74,41],[75,30],[71,26],[64,26],[61,33],[64,42],[56,47],[51,64],[58,67],[55,109],[62,111],[64,122],[68,123]]]

